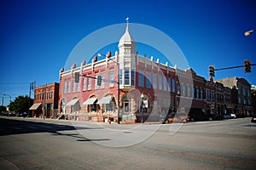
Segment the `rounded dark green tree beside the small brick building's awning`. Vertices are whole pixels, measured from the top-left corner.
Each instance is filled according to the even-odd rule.
[[[9,111],[15,113],[23,113],[27,112],[28,109],[33,104],[33,99],[26,96],[18,96],[15,101],[10,102],[9,104]]]

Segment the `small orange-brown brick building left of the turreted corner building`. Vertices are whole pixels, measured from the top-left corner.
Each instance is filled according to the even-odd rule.
[[[59,83],[34,88],[34,103],[29,110],[32,116],[55,118],[58,109]]]

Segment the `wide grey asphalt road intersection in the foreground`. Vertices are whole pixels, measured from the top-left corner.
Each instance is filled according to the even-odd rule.
[[[108,124],[0,117],[0,169],[255,169],[250,118]]]

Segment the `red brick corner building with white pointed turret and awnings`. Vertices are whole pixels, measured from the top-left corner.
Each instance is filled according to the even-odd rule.
[[[192,71],[194,82],[199,82],[194,88],[191,69],[181,71],[168,63],[161,64],[159,59],[154,61],[154,57],[140,57],[128,24],[118,48],[119,53],[108,53],[106,59],[94,57],[90,64],[82,61],[69,71],[61,69],[59,114],[74,120],[116,122],[119,108],[121,122],[141,122],[142,117],[143,121],[159,121],[161,115],[189,111],[190,105],[178,106],[181,99],[196,100],[192,107],[204,107],[203,78],[196,80],[198,76]],[[80,75],[79,83],[75,82],[76,72]],[[181,80],[177,75],[183,75]],[[97,76],[102,77],[101,86],[97,85]]]

